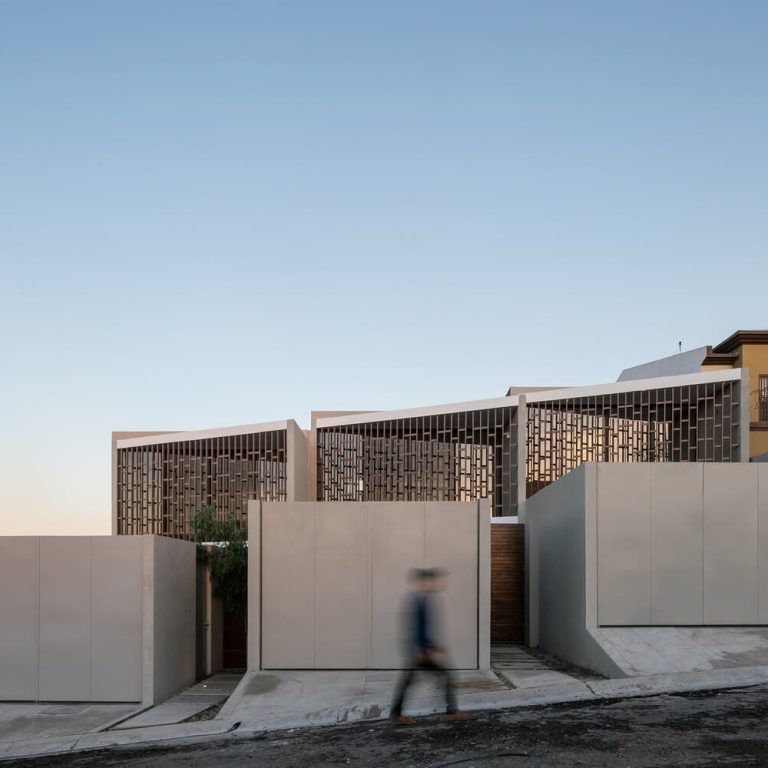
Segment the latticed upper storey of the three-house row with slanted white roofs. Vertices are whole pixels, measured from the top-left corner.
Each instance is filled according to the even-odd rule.
[[[768,349],[768,347],[766,348]],[[746,369],[529,390],[399,411],[196,432],[113,434],[113,532],[190,535],[202,506],[242,520],[250,500],[525,499],[584,462],[749,457]]]

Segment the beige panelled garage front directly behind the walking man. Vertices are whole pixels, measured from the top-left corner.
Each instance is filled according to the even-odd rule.
[[[251,502],[249,667],[401,666],[406,574],[427,565],[450,572],[439,599],[454,665],[487,667],[489,514],[485,502]]]

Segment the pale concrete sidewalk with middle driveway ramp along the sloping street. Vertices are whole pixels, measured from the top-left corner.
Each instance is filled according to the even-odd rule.
[[[537,660],[522,649],[520,654],[511,668],[507,666],[505,669],[505,665],[500,664],[495,672],[458,672],[461,708],[477,711],[533,707],[768,683],[768,665],[613,680],[578,680],[547,670],[544,665],[538,668]],[[213,720],[5,740],[0,743],[0,761],[84,749],[147,746],[171,741],[192,743],[214,737],[250,738],[254,733],[264,731],[380,720],[389,714],[397,674],[354,670],[251,672],[243,677]],[[409,714],[432,715],[443,710],[442,697],[432,685],[430,681],[421,681],[414,686],[413,695],[406,704]]]

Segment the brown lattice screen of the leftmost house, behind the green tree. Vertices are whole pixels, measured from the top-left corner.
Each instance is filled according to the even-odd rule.
[[[248,501],[286,501],[285,430],[117,449],[117,532],[190,538],[212,506],[244,523]]]

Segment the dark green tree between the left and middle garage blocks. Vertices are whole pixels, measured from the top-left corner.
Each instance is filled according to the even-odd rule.
[[[233,515],[221,518],[213,507],[202,507],[191,520],[197,560],[211,571],[213,594],[224,610],[245,621],[248,610],[248,527]]]

